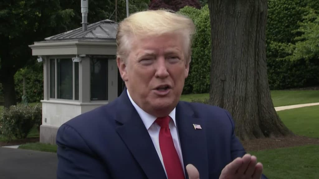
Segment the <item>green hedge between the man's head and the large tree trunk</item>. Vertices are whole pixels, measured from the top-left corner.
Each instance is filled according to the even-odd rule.
[[[208,92],[211,64],[211,24],[208,5],[200,10],[186,6],[179,12],[189,16],[196,25],[192,44],[192,61],[183,94]]]

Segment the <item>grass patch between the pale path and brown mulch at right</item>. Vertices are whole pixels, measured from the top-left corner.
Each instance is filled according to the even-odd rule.
[[[319,138],[319,105],[278,111],[277,113],[293,133]]]

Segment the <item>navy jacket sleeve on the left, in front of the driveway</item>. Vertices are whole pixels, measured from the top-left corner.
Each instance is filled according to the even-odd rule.
[[[59,128],[56,144],[58,145],[58,179],[110,178],[106,167],[71,126],[64,124]]]

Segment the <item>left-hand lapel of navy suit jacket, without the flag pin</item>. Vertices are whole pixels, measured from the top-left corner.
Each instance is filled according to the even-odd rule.
[[[152,139],[142,119],[131,104],[126,89],[124,89],[117,102],[118,104],[115,105],[116,107],[119,106],[116,112],[116,121],[119,124],[116,128],[117,133],[121,136],[147,178],[166,178]]]

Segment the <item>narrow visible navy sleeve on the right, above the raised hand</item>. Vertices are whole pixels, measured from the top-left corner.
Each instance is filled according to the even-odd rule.
[[[226,114],[232,123],[231,154],[232,154],[232,160],[235,160],[237,157],[244,156],[246,154],[246,151],[245,151],[244,147],[242,146],[241,142],[239,141],[239,139],[235,135],[235,125],[234,125],[233,118],[231,117],[231,115],[229,114],[228,111],[226,111]],[[262,174],[261,178],[268,179],[263,174]]]

